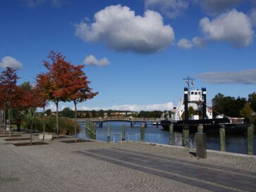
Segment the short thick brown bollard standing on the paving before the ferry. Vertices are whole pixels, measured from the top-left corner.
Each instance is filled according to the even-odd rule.
[[[206,139],[204,133],[195,134],[195,143],[196,143],[196,156],[197,158],[206,158]]]

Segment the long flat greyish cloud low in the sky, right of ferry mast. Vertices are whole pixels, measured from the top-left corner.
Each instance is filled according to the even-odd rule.
[[[256,84],[256,68],[235,72],[205,72],[197,77],[211,84]]]

